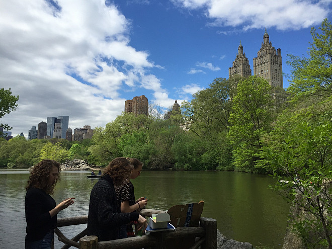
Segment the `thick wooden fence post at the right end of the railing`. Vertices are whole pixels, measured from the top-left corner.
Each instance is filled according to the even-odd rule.
[[[202,249],[217,249],[217,220],[201,217],[200,225],[205,229],[205,240]]]

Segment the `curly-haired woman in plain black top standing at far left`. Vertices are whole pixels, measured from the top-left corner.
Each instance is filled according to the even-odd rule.
[[[30,170],[27,193],[25,196],[25,219],[27,221],[26,249],[51,248],[56,214],[74,203],[67,198],[57,206],[53,194],[58,181],[60,163],[54,160],[42,160]]]

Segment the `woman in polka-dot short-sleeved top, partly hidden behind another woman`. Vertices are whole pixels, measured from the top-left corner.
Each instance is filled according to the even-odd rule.
[[[147,204],[147,199],[140,197],[135,200],[134,185],[131,183],[130,179],[137,178],[143,168],[143,162],[137,158],[127,158],[133,165],[134,169],[130,173],[130,177],[122,182],[120,185],[115,186],[116,196],[118,205],[122,213],[139,212]],[[122,225],[120,228],[120,238],[133,237],[133,223],[130,222],[127,225]]]

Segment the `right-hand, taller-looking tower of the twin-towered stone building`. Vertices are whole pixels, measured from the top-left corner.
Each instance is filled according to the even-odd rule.
[[[272,46],[266,29],[263,40],[262,47],[254,58],[254,75],[265,78],[272,87],[283,88],[281,49],[276,51]]]

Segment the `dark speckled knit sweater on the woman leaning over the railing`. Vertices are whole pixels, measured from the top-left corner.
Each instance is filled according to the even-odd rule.
[[[97,235],[98,241],[118,239],[120,226],[137,221],[138,216],[121,213],[113,181],[109,175],[103,176],[91,191],[87,235]]]

